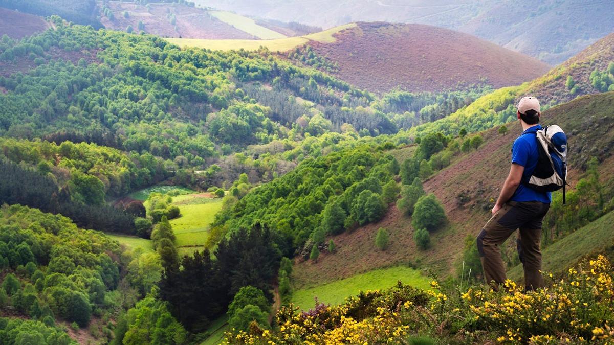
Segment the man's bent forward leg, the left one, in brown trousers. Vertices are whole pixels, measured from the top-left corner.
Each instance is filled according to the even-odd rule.
[[[502,225],[500,220],[510,219],[510,215],[515,213],[512,210],[511,204],[505,204],[501,207],[484,225],[476,240],[478,254],[480,254],[482,268],[484,269],[484,278],[486,283],[490,284],[495,291],[499,290],[499,284],[503,284],[506,279],[505,266],[503,266],[499,246],[518,228],[509,224]],[[494,284],[492,284],[493,281]]]

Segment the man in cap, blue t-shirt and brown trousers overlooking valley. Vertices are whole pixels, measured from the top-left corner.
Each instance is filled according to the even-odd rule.
[[[501,188],[499,199],[492,207],[492,217],[478,235],[477,245],[484,277],[493,290],[505,282],[505,267],[499,246],[518,229],[518,254],[524,268],[525,290],[543,287],[542,219],[550,207],[550,192],[537,192],[526,185],[539,157],[535,132],[539,124],[540,104],[537,98],[524,97],[516,106],[516,116],[523,126],[511,148],[510,174]]]

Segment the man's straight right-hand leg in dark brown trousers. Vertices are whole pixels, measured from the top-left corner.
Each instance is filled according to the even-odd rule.
[[[543,287],[543,278],[540,272],[542,271],[542,252],[540,252],[542,229],[521,227],[519,232],[522,249],[521,262],[524,269],[524,290],[533,291]]]

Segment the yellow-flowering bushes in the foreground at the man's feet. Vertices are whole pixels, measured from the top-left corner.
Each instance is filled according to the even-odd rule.
[[[249,333],[227,333],[230,344],[608,343],[614,335],[614,281],[609,260],[599,255],[570,268],[548,288],[523,292],[507,281],[502,292],[483,287],[433,290],[398,284],[364,292],[339,306],[319,304],[300,312],[279,311],[273,330],[252,324]],[[507,290],[507,291],[503,291]]]

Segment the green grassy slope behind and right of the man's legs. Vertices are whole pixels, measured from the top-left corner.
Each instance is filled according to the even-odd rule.
[[[613,246],[614,226],[612,224],[614,224],[614,211],[543,249],[543,271],[553,274],[562,273],[581,258]],[[523,266],[518,265],[510,269],[508,276],[514,280],[522,279]]]

